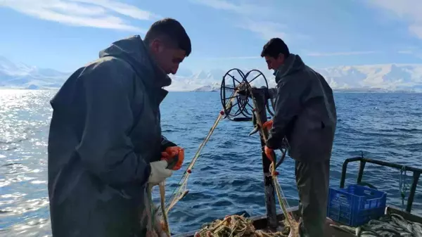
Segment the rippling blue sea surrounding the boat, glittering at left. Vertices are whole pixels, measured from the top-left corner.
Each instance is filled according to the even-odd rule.
[[[0,90],[0,236],[51,236],[46,150],[49,100],[55,93]],[[337,93],[335,100],[338,129],[331,185],[339,185],[345,158],[361,152],[367,158],[422,167],[422,94]],[[170,92],[165,98],[162,131],[186,149],[186,165],[219,110],[219,93]],[[219,123],[193,169],[188,196],[170,212],[172,232],[197,229],[242,210],[264,214],[260,141],[257,134],[248,136],[251,129],[251,122]],[[349,165],[346,185],[356,181],[357,165]],[[293,160],[286,159],[279,171],[283,192],[296,205]],[[168,194],[182,173],[174,172],[167,181]],[[388,203],[401,207],[399,177],[397,169],[366,165],[363,181],[387,192]],[[411,172],[406,181],[409,189]],[[421,193],[419,185],[413,212],[422,215]]]

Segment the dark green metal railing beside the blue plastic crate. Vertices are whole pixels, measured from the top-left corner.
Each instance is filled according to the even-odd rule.
[[[415,168],[415,167],[409,167],[409,166],[406,166],[406,165],[398,165],[398,164],[395,164],[395,163],[392,163],[392,162],[385,162],[385,161],[381,161],[381,160],[373,160],[373,159],[369,159],[369,158],[364,158],[364,155],[362,154],[359,157],[348,158],[348,159],[345,160],[345,162],[343,162],[343,169],[342,169],[342,172],[341,172],[341,179],[340,179],[340,188],[345,187],[347,165],[350,162],[357,162],[357,161],[360,162],[359,173],[357,175],[357,184],[362,183],[362,177],[364,175],[364,169],[365,169],[366,163],[371,163],[371,164],[375,164],[375,165],[381,165],[381,166],[385,166],[385,167],[391,167],[391,168],[395,168],[395,169],[399,169],[399,170],[405,170],[405,171],[413,172],[413,182],[411,184],[409,198],[407,198],[407,207],[406,207],[406,211],[409,212],[409,213],[411,212],[411,206],[413,205],[414,196],[415,196],[415,193],[416,193],[416,186],[418,185],[419,177],[421,177],[422,169]]]

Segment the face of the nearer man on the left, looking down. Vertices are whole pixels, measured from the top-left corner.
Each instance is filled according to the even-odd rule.
[[[179,69],[179,64],[183,62],[186,57],[186,52],[176,47],[172,47],[160,39],[155,39],[151,43],[151,53],[153,53],[155,60],[166,74],[176,74]]]

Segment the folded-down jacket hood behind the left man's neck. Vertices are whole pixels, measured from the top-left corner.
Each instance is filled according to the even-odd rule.
[[[120,58],[134,68],[136,74],[148,87],[167,87],[172,79],[155,63],[139,35],[113,42],[99,53],[99,57],[113,56]]]

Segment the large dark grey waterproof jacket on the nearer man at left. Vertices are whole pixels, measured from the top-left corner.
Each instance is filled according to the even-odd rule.
[[[51,100],[48,186],[57,237],[143,236],[149,162],[160,160],[166,142],[159,105],[171,79],[142,39],[116,41],[99,56]]]

